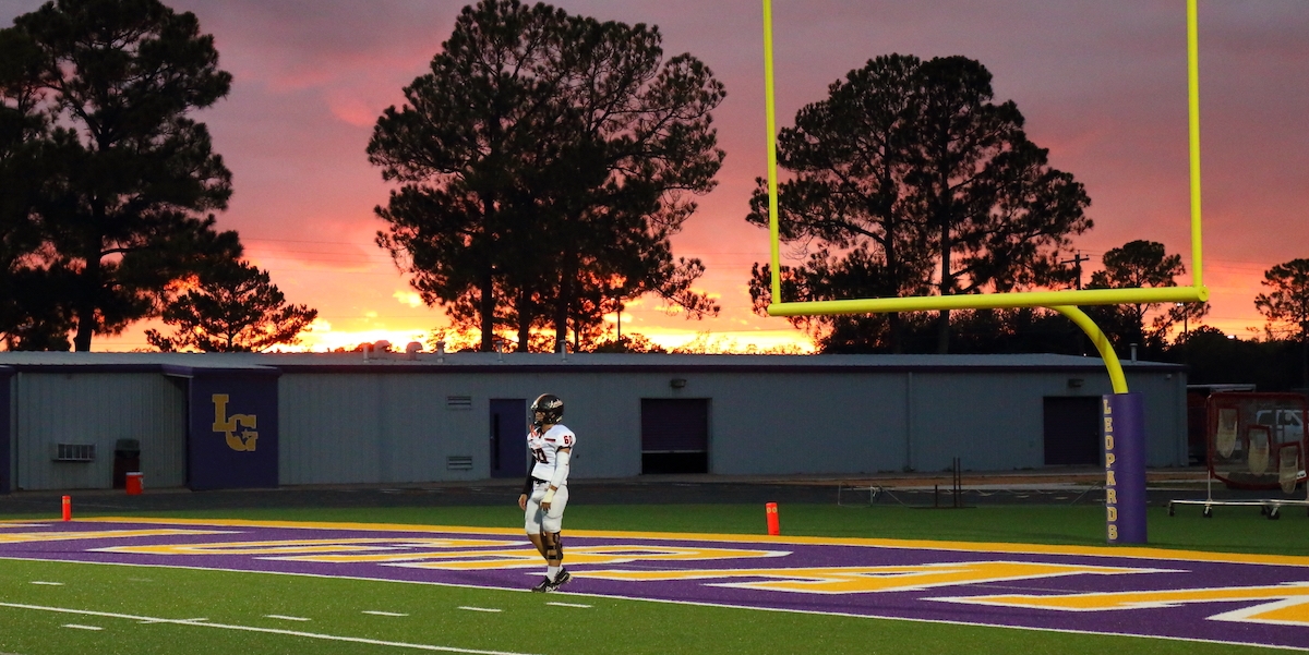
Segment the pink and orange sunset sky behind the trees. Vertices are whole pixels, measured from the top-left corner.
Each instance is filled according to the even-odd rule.
[[[0,21],[39,7],[0,0]],[[384,109],[427,71],[465,3],[446,0],[173,0],[215,35],[232,93],[196,118],[233,171],[219,216],[250,261],[293,303],[319,310],[314,350],[386,339],[399,345],[448,322],[425,307],[373,243],[387,184],[365,146]],[[657,25],[666,56],[690,52],[726,86],[715,114],[726,152],[719,186],[674,238],[700,258],[700,289],[723,312],[669,316],[631,303],[623,333],[675,346],[696,333],[720,348],[808,345],[784,319],[750,311],[747,278],[767,233],[745,222],[766,174],[763,37],[755,0],[562,0],[569,13]],[[1262,273],[1309,258],[1309,3],[1202,0],[1199,5],[1204,323],[1238,336],[1262,328]],[[965,55],[1013,99],[1051,165],[1086,186],[1100,255],[1132,239],[1164,242],[1190,269],[1183,0],[775,0],[778,120],[868,59]],[[1190,277],[1181,280],[1190,282]],[[137,326],[96,350],[145,348]],[[1192,326],[1194,327],[1194,326]]]

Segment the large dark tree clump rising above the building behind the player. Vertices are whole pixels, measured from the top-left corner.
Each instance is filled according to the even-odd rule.
[[[698,260],[669,237],[712,188],[723,160],[708,68],[662,60],[654,27],[598,22],[545,4],[467,7],[406,105],[378,119],[369,161],[399,182],[378,233],[428,305],[480,348],[499,327],[572,327],[647,293],[690,316],[717,311],[691,290]]]

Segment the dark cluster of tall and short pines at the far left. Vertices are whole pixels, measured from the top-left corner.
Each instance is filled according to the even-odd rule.
[[[213,38],[157,0],[59,0],[0,30],[0,339],[89,350],[161,318],[164,350],[258,350],[317,315],[216,229],[232,173],[190,115],[228,94]]]

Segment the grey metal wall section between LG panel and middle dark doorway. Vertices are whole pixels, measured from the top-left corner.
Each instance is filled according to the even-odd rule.
[[[565,399],[577,477],[641,472],[640,399],[664,374],[296,373],[279,379],[281,484],[435,482],[491,476],[491,399]],[[524,445],[526,447],[526,445]],[[470,458],[471,468],[452,468]]]

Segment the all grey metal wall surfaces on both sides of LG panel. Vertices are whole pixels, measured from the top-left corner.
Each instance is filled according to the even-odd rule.
[[[67,369],[65,369],[67,371]],[[685,380],[674,388],[670,379]],[[1069,386],[1069,378],[1085,378]],[[1185,375],[1128,373],[1147,403],[1149,465],[1186,464]],[[185,382],[161,373],[20,373],[20,489],[109,488],[114,442],[141,442],[147,486],[186,484]],[[564,399],[577,479],[641,472],[643,399],[707,399],[709,472],[851,475],[1041,468],[1043,399],[1109,392],[1098,371],[833,370],[548,371],[429,366],[353,373],[283,367],[283,485],[419,484],[490,477],[490,400]],[[94,443],[93,463],[51,462],[55,443]]]

